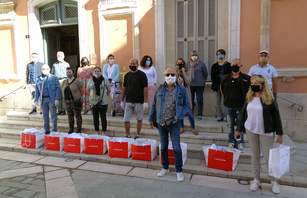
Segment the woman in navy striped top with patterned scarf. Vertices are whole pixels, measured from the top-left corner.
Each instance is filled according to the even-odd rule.
[[[195,93],[197,99],[197,120],[201,120],[204,110],[204,89],[206,86],[206,79],[208,77],[208,70],[204,62],[199,60],[197,51],[192,51],[190,54],[190,62],[186,64],[187,69],[191,71],[191,99],[192,99],[192,111],[195,106]]]

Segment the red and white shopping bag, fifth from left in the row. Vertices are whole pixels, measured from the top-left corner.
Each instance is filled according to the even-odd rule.
[[[131,155],[132,142],[134,142],[133,138],[113,137],[107,139],[109,157],[129,158]]]

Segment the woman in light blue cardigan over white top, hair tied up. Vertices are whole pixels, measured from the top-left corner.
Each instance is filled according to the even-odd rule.
[[[109,80],[110,86],[111,86],[111,99],[113,99],[113,93],[115,91],[115,82],[119,82],[119,66],[115,64],[114,56],[112,54],[109,54],[107,57],[108,64],[105,64],[103,66],[103,77],[107,78]],[[112,109],[113,111],[113,109]],[[111,111],[111,114],[112,114]],[[109,115],[108,109],[107,109],[107,116]]]

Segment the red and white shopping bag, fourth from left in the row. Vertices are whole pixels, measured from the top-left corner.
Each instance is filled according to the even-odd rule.
[[[103,155],[107,152],[107,139],[102,135],[88,135],[84,138],[84,153]]]

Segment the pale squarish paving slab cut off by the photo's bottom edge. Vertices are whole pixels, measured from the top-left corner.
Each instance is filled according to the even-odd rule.
[[[62,177],[45,181],[47,197],[71,196],[77,193],[71,177]],[[72,196],[73,197],[73,196]],[[76,194],[75,194],[76,197]]]

